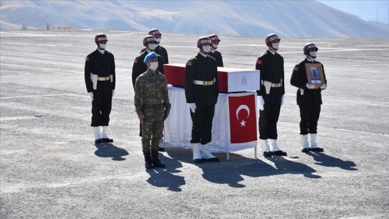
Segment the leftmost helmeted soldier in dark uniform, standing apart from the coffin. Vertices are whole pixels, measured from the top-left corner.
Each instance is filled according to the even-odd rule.
[[[94,37],[97,49],[85,58],[85,85],[92,100],[92,123],[94,143],[108,142],[107,127],[112,108],[112,97],[115,94],[115,58],[106,51],[108,42],[104,33]]]

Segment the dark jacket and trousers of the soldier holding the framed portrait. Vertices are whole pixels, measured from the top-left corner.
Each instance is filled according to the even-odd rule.
[[[308,78],[306,76],[305,64],[310,63],[308,60],[303,60],[301,63],[295,65],[290,78],[290,84],[297,88],[303,89],[303,95],[301,95],[300,89],[297,89],[297,105],[300,108],[300,134],[306,135],[308,133],[317,133],[317,121],[319,120],[320,110],[322,105],[322,89],[308,89],[306,83]],[[320,63],[314,61],[314,63]],[[321,64],[321,63],[320,63]],[[326,81],[326,75],[324,74],[324,83]]]

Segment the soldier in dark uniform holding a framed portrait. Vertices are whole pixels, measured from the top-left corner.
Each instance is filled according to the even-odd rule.
[[[297,89],[297,105],[300,108],[300,140],[301,152],[324,152],[324,149],[316,143],[317,121],[320,116],[320,108],[322,105],[322,90],[327,88],[326,74],[322,63],[318,62],[317,50],[315,44],[306,44],[303,48],[306,58],[301,63],[295,65],[290,78],[290,84]],[[308,83],[306,74],[306,63],[320,64],[323,71],[324,83],[321,86],[316,86],[313,83]],[[320,74],[320,72],[317,72]],[[309,138],[308,138],[309,137]]]

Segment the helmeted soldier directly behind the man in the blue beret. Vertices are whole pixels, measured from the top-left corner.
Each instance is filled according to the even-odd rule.
[[[154,37],[154,35],[147,35],[143,38],[143,46],[144,46],[144,50],[133,61],[132,79],[133,79],[134,89],[135,89],[135,79],[137,79],[138,76],[140,76],[140,74],[147,71],[147,65],[143,62],[143,60],[148,54],[154,52],[154,49],[156,49],[156,47],[158,47],[157,39]],[[163,74],[163,58],[158,54],[157,56],[158,56],[158,72]],[[142,137],[142,124],[140,124],[139,136]],[[160,150],[162,151],[163,147],[160,147]]]

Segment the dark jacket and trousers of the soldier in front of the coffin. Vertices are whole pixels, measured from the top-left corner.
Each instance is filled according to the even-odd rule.
[[[195,83],[201,83],[204,85]],[[190,143],[206,145],[212,138],[212,121],[215,104],[219,95],[217,80],[217,63],[211,56],[204,57],[200,53],[188,60],[185,66],[185,97],[187,103],[195,103],[195,113],[192,117],[192,140]]]

